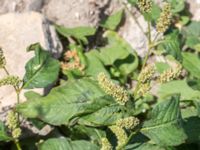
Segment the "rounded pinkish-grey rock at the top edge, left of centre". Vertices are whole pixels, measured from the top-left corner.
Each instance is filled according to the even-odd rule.
[[[90,0],[50,0],[43,13],[50,20],[67,27],[91,26],[94,16],[98,17],[95,10],[91,10]]]

